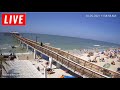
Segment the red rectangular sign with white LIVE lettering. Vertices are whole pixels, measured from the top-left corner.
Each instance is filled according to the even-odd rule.
[[[26,14],[2,14],[2,25],[4,26],[26,25]]]

